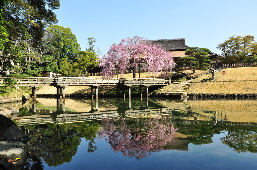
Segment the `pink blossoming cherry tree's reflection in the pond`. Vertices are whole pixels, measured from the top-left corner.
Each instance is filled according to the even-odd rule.
[[[150,118],[142,126],[130,127],[123,119],[120,121],[105,119],[98,138],[106,139],[114,152],[121,151],[125,156],[141,160],[160,151],[174,139],[177,129],[168,119]]]

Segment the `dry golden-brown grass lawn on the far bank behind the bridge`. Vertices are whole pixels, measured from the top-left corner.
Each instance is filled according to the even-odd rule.
[[[226,68],[222,71],[226,71],[225,79],[219,80],[216,78],[216,83],[193,83],[190,85],[188,93],[257,93],[257,85],[255,81],[257,80],[257,67],[242,67],[242,68]],[[191,73],[192,71],[185,71]],[[196,73],[205,72],[202,70],[196,70]],[[219,73],[218,73],[219,75]],[[222,74],[221,74],[222,76]],[[94,76],[95,78],[101,76]],[[119,76],[120,77],[120,76]],[[131,78],[132,74],[124,74],[123,77]],[[139,73],[137,73],[139,77]],[[146,73],[140,73],[141,78],[146,78]],[[148,77],[153,78],[151,73],[148,73]],[[194,79],[195,82],[200,82],[200,80],[207,78],[208,75],[200,76]],[[91,77],[93,78],[93,77]],[[223,76],[221,77],[223,78]],[[242,81],[241,81],[242,80]],[[247,80],[247,81],[243,81]],[[221,81],[221,82],[219,82]],[[229,81],[229,82],[222,82]],[[232,81],[232,82],[231,82]],[[183,89],[183,84],[164,86],[162,90],[155,91],[156,93],[166,93],[166,92],[180,92]],[[100,86],[99,93],[107,93],[114,86]],[[65,88],[66,94],[70,93],[91,93],[91,88],[88,86],[67,86]],[[56,88],[53,86],[44,86],[38,90],[38,94],[56,94]]]

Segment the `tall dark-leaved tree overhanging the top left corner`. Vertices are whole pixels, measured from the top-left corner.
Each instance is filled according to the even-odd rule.
[[[20,62],[24,57],[30,61],[29,46],[20,46],[19,41],[29,40],[30,46],[36,47],[41,42],[45,27],[57,22],[53,10],[59,6],[59,0],[14,0],[5,5],[0,24],[0,75],[4,76],[12,67],[12,61]]]

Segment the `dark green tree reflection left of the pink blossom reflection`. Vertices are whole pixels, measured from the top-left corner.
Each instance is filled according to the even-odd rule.
[[[32,138],[27,143],[31,152],[25,169],[43,169],[42,161],[49,166],[58,166],[70,162],[77,153],[81,139],[88,141],[88,152],[94,152],[94,139],[99,130],[97,123],[41,124],[24,127],[24,131]]]

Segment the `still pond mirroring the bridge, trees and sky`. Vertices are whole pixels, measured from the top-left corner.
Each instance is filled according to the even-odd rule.
[[[21,169],[255,169],[254,99],[12,103],[32,139]],[[8,105],[1,104],[1,106]],[[131,107],[130,107],[131,106]]]

